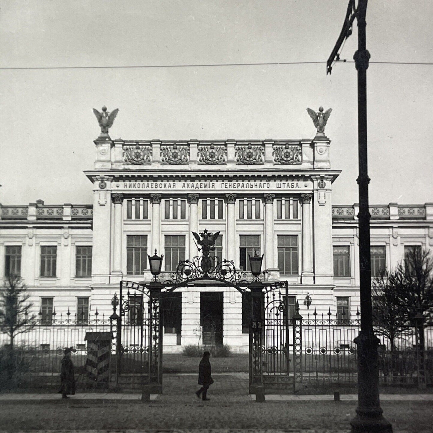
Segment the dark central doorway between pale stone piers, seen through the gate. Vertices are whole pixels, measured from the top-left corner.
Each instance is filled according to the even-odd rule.
[[[200,325],[205,346],[223,344],[223,292],[200,293]]]

